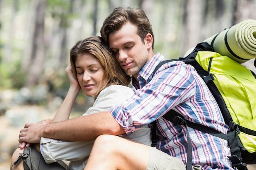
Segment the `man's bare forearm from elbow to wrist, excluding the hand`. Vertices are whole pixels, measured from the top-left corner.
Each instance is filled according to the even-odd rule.
[[[96,113],[46,125],[40,136],[68,141],[88,141],[102,134],[121,135],[124,129],[110,112]]]

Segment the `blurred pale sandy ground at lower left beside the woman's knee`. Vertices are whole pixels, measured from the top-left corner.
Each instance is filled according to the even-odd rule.
[[[10,169],[11,154],[18,146],[18,134],[25,122],[49,119],[54,113],[40,106],[17,106],[0,116],[0,170]]]

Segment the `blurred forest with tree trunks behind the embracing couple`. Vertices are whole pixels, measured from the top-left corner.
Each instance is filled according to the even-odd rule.
[[[37,121],[56,113],[70,85],[65,74],[70,48],[100,35],[103,20],[120,6],[145,11],[155,34],[154,51],[169,59],[225,28],[256,19],[255,0],[0,0],[0,165],[13,149],[7,141],[14,139],[7,136],[14,134],[17,141],[26,117]],[[80,95],[79,114],[91,104]],[[31,119],[35,114],[41,117]]]

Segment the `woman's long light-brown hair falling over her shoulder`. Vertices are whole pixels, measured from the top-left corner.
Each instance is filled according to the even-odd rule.
[[[107,79],[106,84],[99,84],[99,89],[95,94],[95,99],[104,88],[110,85],[128,86],[130,84],[131,77],[126,75],[126,73],[121,69],[119,63],[115,57],[113,57],[112,51],[103,38],[99,36],[92,36],[90,38],[80,40],[72,47],[72,49],[70,49],[70,64],[76,79],[76,59],[79,55],[84,55],[85,53],[90,53],[99,60],[105,71],[103,79]]]

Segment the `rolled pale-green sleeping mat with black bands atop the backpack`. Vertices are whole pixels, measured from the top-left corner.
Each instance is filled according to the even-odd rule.
[[[204,41],[239,63],[256,58],[256,20],[244,20]]]

